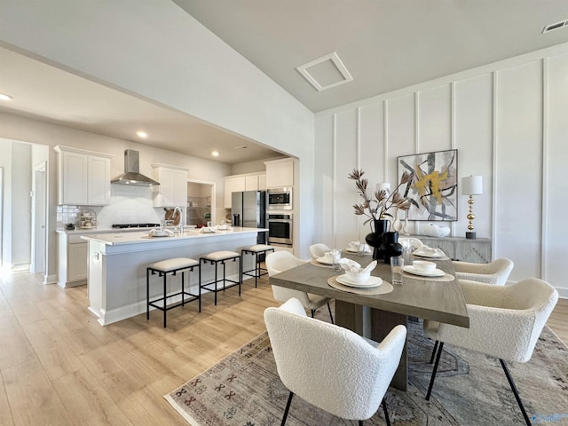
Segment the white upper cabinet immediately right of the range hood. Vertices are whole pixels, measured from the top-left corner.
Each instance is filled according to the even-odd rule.
[[[154,194],[154,207],[185,207],[187,204],[187,170],[184,167],[154,163],[154,179],[160,182]]]

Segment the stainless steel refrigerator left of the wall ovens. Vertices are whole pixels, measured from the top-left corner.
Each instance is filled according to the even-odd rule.
[[[244,191],[233,193],[231,204],[233,226],[247,228],[266,227],[266,192]],[[258,233],[258,244],[266,243],[266,233]]]

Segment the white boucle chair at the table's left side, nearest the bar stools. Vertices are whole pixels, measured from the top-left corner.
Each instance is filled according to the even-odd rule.
[[[268,270],[268,277],[275,275],[280,272],[288,271],[288,269],[295,268],[301,264],[307,264],[309,260],[303,260],[288,251],[277,251],[266,256],[264,263],[266,264],[266,269]],[[309,309],[312,313],[312,318],[317,309],[319,309],[324,304],[327,304],[327,311],[329,311],[329,318],[331,323],[334,323],[334,316],[331,313],[331,306],[329,297],[312,295],[304,291],[295,290],[293,288],[285,288],[280,286],[272,285],[272,294],[274,299],[279,302],[286,302],[290,297],[296,297],[303,305],[305,309]]]

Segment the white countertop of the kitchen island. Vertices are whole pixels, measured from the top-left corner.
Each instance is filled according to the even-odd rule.
[[[134,229],[134,228],[127,228]],[[180,234],[177,231],[174,232],[173,236],[168,237],[152,237],[149,235],[152,229],[143,228],[145,231],[135,230],[134,232],[124,233],[124,232],[110,232],[110,233],[83,233],[82,239],[87,241],[99,241],[108,246],[120,246],[126,244],[147,244],[156,243],[160,241],[184,241],[184,240],[194,240],[201,238],[217,238],[228,235],[238,235],[243,233],[261,233],[267,232],[268,229],[265,228],[241,228],[233,227],[228,231],[217,231],[216,233],[201,233],[200,229],[196,228],[185,228],[185,232]],[[69,233],[82,233],[81,230],[69,231]],[[189,242],[189,241],[187,241]]]

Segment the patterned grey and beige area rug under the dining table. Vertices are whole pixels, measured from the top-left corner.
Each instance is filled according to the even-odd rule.
[[[523,416],[499,360],[472,351],[444,348],[430,402],[424,399],[433,343],[422,323],[409,323],[409,386],[386,394],[393,425],[522,425]],[[338,366],[340,367],[340,366]],[[509,364],[534,424],[568,425],[568,348],[545,327],[533,358]],[[166,398],[193,426],[279,425],[288,398],[280,382],[270,340],[263,333]],[[295,397],[288,426],[357,425]],[[385,424],[383,410],[365,422]]]

